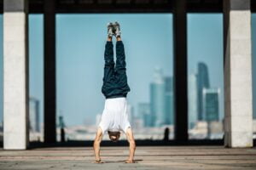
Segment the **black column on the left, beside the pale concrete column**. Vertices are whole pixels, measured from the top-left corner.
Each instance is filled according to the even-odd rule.
[[[55,1],[44,1],[44,142],[56,141]]]

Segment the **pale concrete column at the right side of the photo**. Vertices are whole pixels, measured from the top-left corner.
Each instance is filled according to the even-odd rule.
[[[250,0],[224,1],[224,146],[253,146]]]

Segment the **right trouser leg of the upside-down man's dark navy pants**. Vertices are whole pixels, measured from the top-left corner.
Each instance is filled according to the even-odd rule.
[[[116,81],[124,93],[130,91],[130,87],[127,83],[126,75],[126,62],[125,62],[125,48],[121,40],[121,37],[117,37],[116,42],[116,65],[115,65]]]

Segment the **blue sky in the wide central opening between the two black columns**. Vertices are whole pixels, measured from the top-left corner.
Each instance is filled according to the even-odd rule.
[[[102,113],[106,26],[114,20],[121,25],[125,44],[131,105],[149,102],[155,66],[172,75],[171,14],[57,15],[58,110],[63,115],[78,116],[79,122],[94,123],[96,114]]]

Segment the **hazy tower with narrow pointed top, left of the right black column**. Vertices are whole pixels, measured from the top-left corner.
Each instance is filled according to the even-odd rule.
[[[154,81],[150,84],[150,112],[152,126],[165,123],[165,82],[160,68],[155,68]]]

